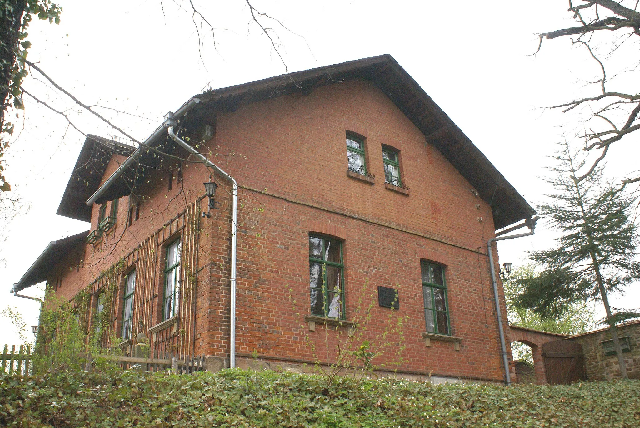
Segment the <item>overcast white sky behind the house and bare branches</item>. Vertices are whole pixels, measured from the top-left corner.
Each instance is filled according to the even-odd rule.
[[[163,6],[160,0],[60,0],[59,26],[31,25],[29,58],[86,104],[150,119],[103,110],[138,139],[207,84],[221,88],[285,72],[266,37],[249,23],[243,0],[194,3],[206,4],[201,12],[220,28],[217,50],[211,36],[205,37],[202,60],[191,13],[180,8],[188,5],[184,0]],[[554,143],[575,128],[567,116],[540,107],[572,99],[584,90],[580,79],[597,73],[569,40],[545,42],[533,55],[536,33],[573,24],[566,2],[254,0],[253,5],[291,30],[270,24],[285,45],[289,71],[394,56],[532,205],[545,200],[548,189],[538,177],[548,175]],[[31,77],[24,86],[60,109],[72,107]],[[86,113],[70,115],[85,133],[114,133]],[[38,304],[12,297],[12,283],[49,241],[88,228],[55,214],[83,141],[82,134],[67,130],[63,118],[28,101],[24,129],[8,153],[7,177],[31,209],[7,226],[0,248],[6,262],[0,265],[0,310],[16,306],[28,326],[37,323]],[[622,175],[637,169],[639,150],[631,143],[620,143],[610,154],[610,171]],[[548,248],[553,237],[542,224],[534,237],[501,242],[500,261],[522,264],[526,251]],[[612,305],[640,306],[639,288],[613,296]],[[31,287],[25,294],[38,292]],[[0,319],[0,344],[17,340],[10,322]]]

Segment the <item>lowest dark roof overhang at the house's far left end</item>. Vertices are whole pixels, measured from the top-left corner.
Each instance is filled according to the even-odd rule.
[[[28,271],[22,275],[20,281],[13,284],[12,292],[22,291],[27,287],[31,287],[31,285],[47,280],[47,274],[49,274],[63,258],[67,257],[69,251],[76,248],[81,242],[84,242],[88,234],[89,231],[87,230],[81,234],[49,242],[47,248],[42,251],[42,254],[33,262]]]

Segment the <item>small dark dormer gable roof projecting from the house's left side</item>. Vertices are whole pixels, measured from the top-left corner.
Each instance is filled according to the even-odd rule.
[[[91,207],[88,207],[85,202],[100,187],[102,175],[111,155],[116,153],[129,156],[133,150],[134,147],[126,143],[88,134],[56,214],[76,220],[91,221]]]

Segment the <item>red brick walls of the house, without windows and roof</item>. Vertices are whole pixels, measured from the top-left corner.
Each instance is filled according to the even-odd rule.
[[[365,138],[367,169],[376,177],[373,182],[348,176],[347,131]],[[408,195],[384,186],[382,145],[400,151]],[[241,186],[240,356],[313,361],[316,357],[305,340],[308,335],[320,351],[317,358],[331,362],[334,338],[325,341],[323,326],[308,331],[303,319],[310,299],[308,234],[316,232],[343,241],[348,315],[355,312],[363,289],[374,292],[383,285],[399,290],[396,315],[409,319],[404,326],[404,372],[488,381],[503,378],[485,255],[486,241],[494,236],[491,209],[378,88],[366,81],[348,81],[311,95],[277,97],[233,113],[218,111],[216,136],[200,151],[207,153],[207,148],[212,161]],[[180,151],[176,154],[186,157]],[[103,180],[120,162],[111,161]],[[76,266],[77,255],[56,268],[63,276],[61,296],[74,296],[202,196],[209,172],[201,164],[175,159],[166,161],[163,168],[178,164],[184,178],[179,185],[173,183],[172,191],[166,172],[154,171],[138,189],[138,196],[120,200],[118,225],[102,242],[78,249],[83,255],[79,272],[69,270]],[[228,183],[220,177],[216,182],[221,186],[216,195],[219,209],[200,222],[195,325],[184,327],[195,329],[196,353],[228,358],[231,198]],[[140,219],[129,226],[127,213],[138,202]],[[206,210],[205,205],[206,201],[201,207]],[[93,207],[92,228],[98,209]],[[162,251],[164,243],[159,242],[154,251]],[[460,338],[459,350],[456,343],[433,339],[426,346],[422,338],[421,258],[445,266],[451,330]],[[162,292],[162,266],[159,261],[156,279],[147,286],[148,295],[155,298]],[[58,270],[52,271],[49,283],[54,283]],[[367,328],[370,338],[382,333],[390,311],[377,306],[375,294],[373,299],[374,316]],[[365,298],[364,305],[369,303]],[[329,351],[324,349],[326,344]]]

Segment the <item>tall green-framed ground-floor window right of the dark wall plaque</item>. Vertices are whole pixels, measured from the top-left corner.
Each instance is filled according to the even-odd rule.
[[[420,261],[422,269],[422,296],[424,298],[424,322],[427,331],[449,335],[449,305],[444,268]]]

